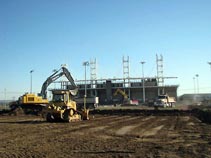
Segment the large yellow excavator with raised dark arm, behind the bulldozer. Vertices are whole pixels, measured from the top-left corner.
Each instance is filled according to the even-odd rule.
[[[61,72],[60,72],[61,71]],[[15,102],[10,103],[11,111],[14,111],[17,108],[23,109],[26,114],[39,114],[41,113],[43,107],[47,106],[49,101],[47,100],[47,88],[48,86],[57,80],[59,77],[65,75],[71,84],[74,85],[73,78],[70,72],[64,66],[61,69],[55,71],[51,76],[49,76],[46,81],[43,83],[41,92],[36,94],[26,93],[19,97]],[[77,88],[72,90],[72,93],[76,93]]]

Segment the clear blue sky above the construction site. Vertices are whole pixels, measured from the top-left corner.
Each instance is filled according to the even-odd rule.
[[[0,100],[39,93],[54,69],[67,64],[84,79],[84,61],[97,60],[97,78],[156,76],[163,56],[166,85],[178,95],[211,92],[210,0],[1,0]],[[89,73],[89,70],[87,70]],[[88,76],[89,77],[89,76]]]

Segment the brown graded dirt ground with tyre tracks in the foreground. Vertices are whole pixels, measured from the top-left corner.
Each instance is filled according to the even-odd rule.
[[[91,115],[48,123],[40,116],[0,116],[1,158],[211,157],[211,125],[186,115]]]

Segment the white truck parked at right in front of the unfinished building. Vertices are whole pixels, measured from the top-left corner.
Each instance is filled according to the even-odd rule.
[[[167,94],[165,95],[159,95],[157,99],[154,102],[155,107],[173,107],[176,103],[176,100],[174,97],[169,97]]]

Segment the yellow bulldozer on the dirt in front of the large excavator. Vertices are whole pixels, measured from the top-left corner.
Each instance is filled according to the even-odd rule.
[[[88,109],[77,109],[73,91],[52,90],[52,94],[52,101],[43,109],[43,117],[46,117],[48,122],[89,120]]]

